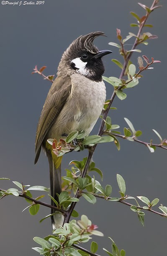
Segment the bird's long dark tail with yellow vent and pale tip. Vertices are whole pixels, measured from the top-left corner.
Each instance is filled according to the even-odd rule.
[[[62,176],[61,176],[61,162],[62,157],[57,157],[55,154],[51,154],[50,150],[46,151],[48,161],[49,161],[49,172],[50,172],[50,191],[51,196],[59,202],[59,198],[57,193],[60,194],[62,192]],[[51,205],[56,206],[53,200],[51,200]],[[60,212],[56,212],[54,209],[51,209],[51,214],[55,213],[51,216],[51,223],[53,229],[57,229],[60,225],[63,225],[64,216]]]

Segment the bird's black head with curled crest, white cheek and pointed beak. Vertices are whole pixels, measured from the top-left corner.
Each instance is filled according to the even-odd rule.
[[[110,50],[99,51],[93,44],[93,40],[101,35],[105,36],[103,32],[92,32],[75,39],[62,55],[58,70],[67,65],[73,72],[101,81],[104,73],[101,57],[111,53]]]

